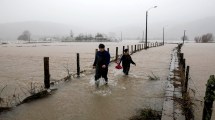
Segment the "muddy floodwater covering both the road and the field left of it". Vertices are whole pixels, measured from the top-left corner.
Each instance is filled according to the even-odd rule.
[[[52,79],[66,76],[64,65],[75,72],[76,53],[80,53],[81,69],[88,73],[81,78],[58,84],[53,95],[22,104],[12,111],[4,112],[4,120],[124,120],[133,116],[140,108],[162,110],[164,86],[169,74],[171,52],[176,45],[150,48],[132,55],[137,66],[132,66],[130,75],[115,69],[115,63],[109,66],[109,85],[95,88],[92,62],[95,48],[99,43],[64,43],[54,45],[21,45],[0,47],[1,87],[8,85],[29,86],[29,83],[43,82],[43,57],[50,57]],[[105,43],[115,56],[115,47],[122,51],[123,45],[134,43]],[[148,80],[147,75],[154,74],[159,80]],[[5,89],[8,90],[9,87]]]

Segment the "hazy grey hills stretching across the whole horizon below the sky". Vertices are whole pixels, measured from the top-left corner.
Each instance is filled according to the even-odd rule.
[[[169,24],[169,25],[168,25]],[[205,33],[212,33],[215,36],[215,16],[195,20],[192,22],[181,22],[180,24],[174,23],[150,23],[148,26],[148,37],[149,39],[162,39],[162,28],[163,25],[167,25],[165,28],[166,39],[180,39],[183,36],[183,31],[186,30],[186,34],[189,40],[193,40],[195,36],[202,35]],[[115,26],[105,29],[105,27],[100,26],[100,28],[87,27],[87,26],[72,26],[53,22],[16,22],[16,23],[5,23],[0,24],[0,40],[16,40],[17,37],[22,34],[24,30],[29,30],[34,39],[42,36],[68,36],[70,30],[73,30],[75,36],[79,33],[95,34],[97,32],[105,33],[109,35],[115,34],[116,38],[120,38],[121,32],[123,39],[136,39],[142,38],[143,30],[145,32],[145,21],[138,24],[134,23],[132,25],[125,26]]]

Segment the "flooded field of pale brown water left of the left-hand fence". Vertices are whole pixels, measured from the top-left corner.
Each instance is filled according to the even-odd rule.
[[[134,42],[135,43],[135,42]],[[137,43],[137,42],[136,42]],[[95,49],[99,43],[39,43],[8,44],[0,46],[0,88],[7,92],[27,88],[33,83],[42,83],[44,79],[43,57],[50,57],[51,79],[59,80],[76,71],[76,53],[80,53],[81,70],[91,69]],[[115,56],[115,47],[131,43],[106,43],[111,56]],[[5,92],[3,92],[5,94]],[[11,94],[11,93],[10,93]]]

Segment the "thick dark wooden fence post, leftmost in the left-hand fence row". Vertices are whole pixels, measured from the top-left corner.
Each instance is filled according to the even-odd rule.
[[[46,89],[50,88],[49,57],[44,57],[44,85]]]

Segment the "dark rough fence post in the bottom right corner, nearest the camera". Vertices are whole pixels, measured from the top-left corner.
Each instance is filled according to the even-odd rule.
[[[211,120],[212,107],[215,96],[215,78],[214,75],[211,75],[207,82],[207,88],[204,97],[204,108],[202,120]]]

